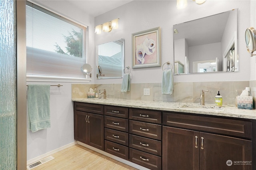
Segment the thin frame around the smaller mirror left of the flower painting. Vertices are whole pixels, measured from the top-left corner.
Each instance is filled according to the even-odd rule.
[[[106,72],[103,71],[103,73],[100,73],[99,71],[99,68],[101,69],[101,66],[98,64],[98,45],[96,45],[96,77],[97,79],[114,79],[114,78],[122,78],[124,73],[123,73],[123,70],[124,70],[124,38],[120,38],[118,40],[114,40],[114,41],[111,41],[111,42],[120,42],[120,40],[122,40],[122,45],[121,45],[121,72],[122,72],[122,76],[121,77],[106,77]],[[110,42],[106,42],[106,43],[110,43]],[[102,43],[102,44],[106,44],[106,43]],[[102,44],[99,44],[99,45],[102,45]],[[101,71],[102,72],[102,71]]]

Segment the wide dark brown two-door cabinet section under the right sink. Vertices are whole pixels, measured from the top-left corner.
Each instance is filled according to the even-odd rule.
[[[163,113],[163,125],[163,170],[252,170],[250,121]]]

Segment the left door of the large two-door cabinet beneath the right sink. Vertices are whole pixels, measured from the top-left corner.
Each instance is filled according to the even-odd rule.
[[[162,169],[199,170],[199,132],[165,126],[162,130]]]

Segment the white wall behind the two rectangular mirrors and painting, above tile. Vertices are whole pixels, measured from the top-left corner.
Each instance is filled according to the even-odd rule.
[[[125,66],[132,66],[132,37],[131,34],[161,27],[162,36],[162,64],[166,61],[173,62],[173,34],[174,24],[195,20],[220,12],[238,8],[238,54],[240,57],[240,71],[236,73],[212,73],[176,75],[175,82],[194,81],[248,81],[253,78],[250,70],[255,70],[255,64],[250,65],[250,57],[245,47],[244,32],[250,26],[250,1],[249,0],[207,0],[198,5],[188,1],[188,6],[177,10],[176,0],[171,1],[132,1],[120,8],[109,11],[95,18],[95,25],[102,24],[114,18],[120,18],[119,29],[109,33],[95,35],[95,45],[124,38],[125,41]],[[214,34],[214,33],[213,33]],[[206,37],[207,38],[207,37]],[[254,59],[255,61],[255,59]],[[251,67],[251,68],[250,68]],[[250,68],[250,69],[248,69]],[[145,71],[147,72],[145,74]],[[162,81],[162,68],[132,69],[132,83],[157,83]],[[143,76],[141,76],[143,75]],[[153,78],[152,78],[153,77]],[[96,84],[122,83],[122,79],[99,79]]]

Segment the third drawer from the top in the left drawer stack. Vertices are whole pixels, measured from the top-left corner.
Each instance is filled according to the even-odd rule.
[[[126,132],[105,128],[105,139],[128,146],[129,136]]]

